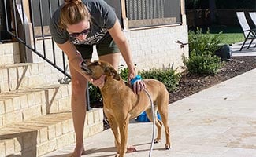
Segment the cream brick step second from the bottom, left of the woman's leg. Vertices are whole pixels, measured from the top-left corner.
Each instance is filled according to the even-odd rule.
[[[0,128],[39,115],[71,110],[71,87],[66,84],[0,93]]]

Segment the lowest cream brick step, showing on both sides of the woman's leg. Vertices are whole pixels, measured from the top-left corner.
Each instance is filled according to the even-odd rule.
[[[101,108],[87,111],[84,138],[102,132],[102,120]],[[42,115],[0,128],[0,156],[38,157],[75,139],[71,112]]]

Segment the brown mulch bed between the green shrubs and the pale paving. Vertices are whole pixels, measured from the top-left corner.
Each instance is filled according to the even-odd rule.
[[[198,93],[202,89],[209,88],[254,68],[256,68],[256,57],[232,57],[230,61],[224,63],[224,66],[216,75],[190,75],[184,73],[181,76],[178,89],[170,93],[169,103],[181,100],[184,97]]]

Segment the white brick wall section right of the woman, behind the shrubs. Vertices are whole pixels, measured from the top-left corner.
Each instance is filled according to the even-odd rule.
[[[188,56],[188,49],[180,49],[175,41],[187,43],[187,26],[155,27],[144,30],[125,31],[132,49],[132,56],[137,68],[173,68],[183,66],[182,55]],[[124,61],[121,62],[124,64]]]

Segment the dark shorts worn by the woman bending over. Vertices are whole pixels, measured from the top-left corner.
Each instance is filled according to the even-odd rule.
[[[106,38],[103,38],[102,41],[100,41],[96,45],[97,53],[98,56],[103,56],[106,54],[111,54],[111,53],[120,53],[120,50],[117,47],[117,44],[113,41],[113,38],[108,35]],[[93,52],[93,45],[75,45],[76,49],[80,52],[82,55],[83,59],[90,60],[92,57],[92,52]]]

